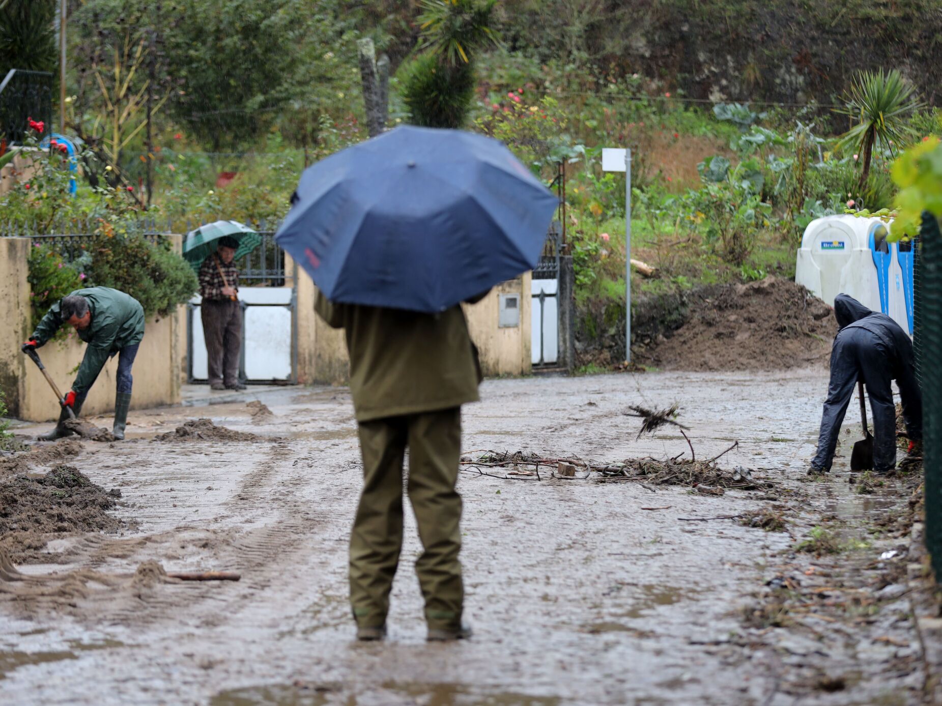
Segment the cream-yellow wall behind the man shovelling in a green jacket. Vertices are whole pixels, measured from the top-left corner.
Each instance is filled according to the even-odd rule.
[[[171,236],[179,249],[180,236]],[[58,417],[55,394],[39,368],[20,351],[20,345],[32,331],[29,311],[29,284],[26,281],[30,241],[28,238],[0,238],[0,320],[18,322],[15,337],[4,337],[0,344],[0,387],[10,406],[10,413],[21,419],[43,422]],[[181,307],[182,309],[182,307]],[[132,369],[134,393],[131,409],[172,405],[180,402],[181,337],[186,329],[180,312],[163,318],[152,318],[144,329],[144,340]],[[56,381],[60,392],[71,386],[73,369],[82,361],[85,344],[72,338],[65,343],[50,342],[40,348],[46,370]],[[118,357],[106,363],[89,392],[83,415],[103,414],[114,409],[115,374]]]

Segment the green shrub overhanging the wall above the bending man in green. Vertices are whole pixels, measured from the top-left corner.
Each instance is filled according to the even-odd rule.
[[[89,279],[136,298],[144,314],[166,316],[184,304],[200,285],[187,262],[168,245],[154,245],[142,235],[96,235],[89,248]]]

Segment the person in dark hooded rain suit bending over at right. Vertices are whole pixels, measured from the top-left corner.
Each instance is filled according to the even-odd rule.
[[[809,474],[831,470],[837,434],[858,379],[867,386],[873,417],[873,465],[877,473],[896,467],[896,409],[890,381],[900,388],[902,416],[910,441],[922,440],[922,393],[916,380],[913,342],[885,313],[869,310],[853,297],[834,301],[839,330],[831,349],[831,382],[821,415],[818,454]],[[910,447],[911,453],[913,447]]]

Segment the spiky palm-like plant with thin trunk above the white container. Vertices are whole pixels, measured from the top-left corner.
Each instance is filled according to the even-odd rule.
[[[851,116],[857,124],[840,136],[837,145],[851,147],[863,167],[860,188],[867,185],[873,147],[895,152],[914,133],[905,118],[922,107],[913,96],[914,88],[897,70],[862,72],[853,81],[845,103],[838,113]]]

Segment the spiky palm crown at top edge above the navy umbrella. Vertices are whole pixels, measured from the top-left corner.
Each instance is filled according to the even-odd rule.
[[[422,0],[420,49],[440,56],[450,66],[467,64],[486,44],[496,44],[491,27],[497,0]]]

